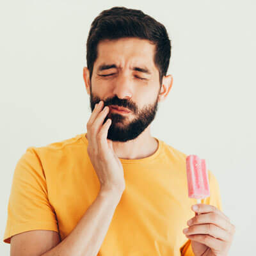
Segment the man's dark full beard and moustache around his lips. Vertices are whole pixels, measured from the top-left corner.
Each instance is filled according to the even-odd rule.
[[[90,89],[90,108],[93,111],[95,104],[103,99],[93,95],[92,86],[90,86]],[[105,124],[108,118],[111,119],[111,125],[108,129],[108,140],[120,142],[134,140],[141,134],[141,132],[145,131],[156,116],[160,89],[161,88],[159,88],[155,102],[153,104],[148,104],[140,110],[138,110],[136,105],[130,100],[119,99],[117,96],[103,100],[104,106],[116,105],[131,111],[128,114],[122,115],[121,113],[114,113],[109,110],[108,115],[104,118],[103,122],[103,124]],[[135,115],[135,117],[129,121],[129,115]]]

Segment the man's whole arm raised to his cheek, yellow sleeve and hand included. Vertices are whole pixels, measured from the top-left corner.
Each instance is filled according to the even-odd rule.
[[[15,197],[13,198],[12,196],[12,207],[10,207],[10,210],[13,213],[16,212],[15,208],[19,209],[20,207],[22,209],[22,215],[9,215],[15,216],[13,219],[18,225],[22,223],[24,216],[26,216],[26,220],[28,221],[26,225],[23,225],[23,227],[19,229],[16,228],[14,232],[11,230],[10,225],[8,225],[5,237],[10,237],[12,234],[19,234],[20,230],[32,230],[28,229],[29,227],[32,227],[32,224],[34,225],[34,231],[33,235],[31,235],[31,233],[26,234],[26,239],[24,239],[24,236],[21,234],[18,235],[19,239],[16,237],[15,240],[19,243],[14,244],[20,244],[21,246],[14,245],[16,253],[12,256],[95,256],[99,252],[100,246],[104,241],[104,237],[106,236],[113,218],[116,206],[125,189],[122,163],[113,150],[112,141],[107,138],[111,122],[108,120],[108,122],[102,124],[108,113],[108,108],[106,108],[107,111],[101,109],[102,104],[101,106],[99,105],[98,108],[93,109],[92,116],[87,124],[88,132],[86,134],[89,141],[87,147],[88,156],[90,157],[100,181],[100,193],[95,202],[90,205],[74,230],[72,230],[61,243],[58,243],[58,237],[56,237],[55,232],[49,233],[49,230],[58,231],[58,228],[56,223],[57,220],[53,212],[54,209],[52,209],[48,200],[42,163],[40,163],[39,157],[33,157],[34,155],[28,152],[28,154],[25,154],[24,156],[26,158],[28,157],[28,159],[23,158],[22,161],[19,162],[19,168],[16,169],[17,172],[15,172],[15,180],[17,180],[17,184],[13,186],[13,195]],[[33,166],[31,166],[31,164],[33,164]],[[35,179],[35,172],[40,176],[40,181],[42,182],[42,186],[40,187],[38,187],[38,180]],[[24,173],[27,173],[28,175],[24,175]],[[36,178],[37,177],[38,176],[36,176]],[[25,193],[24,188],[28,190],[29,193]],[[30,200],[28,195],[33,195],[38,204],[34,204],[34,201]],[[17,198],[21,198],[21,200],[17,200]],[[22,204],[17,204],[17,202],[22,202]],[[33,209],[33,211],[26,211],[26,209]],[[40,220],[42,216],[41,212],[44,212],[45,214],[43,215],[44,223]],[[41,232],[39,232],[39,229],[44,229],[44,232],[42,232],[43,230],[40,230]],[[48,230],[48,232],[45,231],[45,229]],[[45,237],[40,239],[35,236]],[[51,236],[54,236],[54,243]],[[43,245],[45,241],[47,246]],[[22,252],[20,249],[24,251],[23,255],[20,255],[20,252]]]

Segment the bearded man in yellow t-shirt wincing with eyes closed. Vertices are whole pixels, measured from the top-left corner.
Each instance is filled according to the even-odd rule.
[[[93,20],[87,132],[20,158],[4,233],[12,255],[228,255],[235,228],[216,178],[209,171],[211,196],[193,212],[186,154],[150,135],[172,88],[170,46],[164,26],[139,10]]]

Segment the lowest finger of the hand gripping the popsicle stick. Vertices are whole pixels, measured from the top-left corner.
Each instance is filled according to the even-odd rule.
[[[191,235],[186,237],[188,237],[188,239],[192,241],[197,241],[199,243],[205,244],[212,250],[216,251],[220,251],[220,248],[223,248],[225,246],[224,241],[209,235]]]

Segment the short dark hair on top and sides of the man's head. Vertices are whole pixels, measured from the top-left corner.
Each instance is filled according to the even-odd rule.
[[[171,41],[166,28],[141,10],[113,7],[102,11],[92,22],[86,42],[86,61],[92,79],[93,64],[97,60],[100,40],[124,37],[146,39],[156,45],[154,63],[159,70],[159,83],[166,76],[171,56]]]

